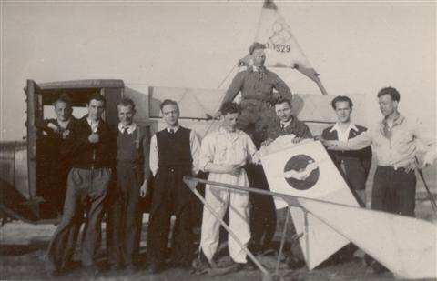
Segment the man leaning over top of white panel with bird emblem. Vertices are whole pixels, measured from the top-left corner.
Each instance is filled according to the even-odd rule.
[[[268,129],[268,139],[264,141],[263,146],[269,145],[269,143],[273,142],[279,136],[282,135],[295,135],[295,138],[292,140],[293,143],[299,143],[300,140],[306,138],[312,138],[312,134],[310,132],[310,128],[308,125],[305,125],[301,122],[295,115],[292,114],[292,105],[290,99],[287,98],[279,98],[274,104],[276,118],[272,120],[269,124]],[[266,200],[266,196],[256,196],[257,200]],[[271,197],[269,197],[271,198]],[[276,215],[276,207],[274,205],[273,199],[269,199],[271,203],[270,207],[275,212]],[[271,212],[271,211],[269,211]],[[267,214],[266,210],[259,210],[259,216],[263,216],[263,214]],[[265,216],[265,215],[264,215]],[[275,221],[276,222],[276,221]],[[258,226],[259,228],[261,227]],[[276,225],[275,225],[276,227]],[[289,233],[295,233],[294,225],[290,223],[291,231]],[[274,235],[276,228],[273,228],[272,236]],[[293,253],[290,248],[290,251],[287,253],[287,263],[290,268],[299,268],[304,265],[303,260],[300,259],[298,253]]]

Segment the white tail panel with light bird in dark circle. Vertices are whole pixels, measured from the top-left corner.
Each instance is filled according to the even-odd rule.
[[[269,154],[261,157],[271,191],[359,206],[320,142],[306,140],[294,146],[289,142],[288,148],[284,146],[283,149],[278,149],[278,143],[283,144],[284,139],[270,145],[277,147],[268,147]],[[277,208],[287,206],[285,201],[278,197],[275,197],[275,205]],[[319,266],[350,242],[320,219],[298,207],[291,208],[291,216],[297,233],[303,234],[300,246],[310,269]]]

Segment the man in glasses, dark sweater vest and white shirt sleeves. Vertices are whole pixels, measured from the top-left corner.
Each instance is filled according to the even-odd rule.
[[[164,100],[161,112],[167,128],[152,136],[150,169],[155,176],[147,233],[149,272],[156,273],[164,264],[171,215],[176,222],[171,238],[171,259],[175,266],[191,264],[193,237],[191,207],[194,195],[185,186],[183,176],[198,173],[198,136],[178,125],[179,108]]]

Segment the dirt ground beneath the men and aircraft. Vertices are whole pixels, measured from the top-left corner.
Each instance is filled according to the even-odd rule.
[[[432,213],[429,201],[419,200],[416,207],[416,216],[436,223],[436,215]],[[40,225],[33,226],[21,222],[11,222],[0,228],[0,279],[2,280],[36,280],[46,279],[44,271],[44,259],[46,247],[50,236],[55,231],[56,226]],[[146,224],[143,226],[146,229]],[[277,232],[279,233],[279,232]],[[146,231],[143,231],[146,235]],[[145,241],[144,236],[142,241]],[[277,237],[278,239],[278,237]],[[181,268],[167,268],[157,275],[148,275],[145,260],[145,244],[141,244],[140,261],[138,271],[134,274],[126,272],[110,272],[105,270],[106,256],[105,249],[100,252],[100,266],[103,268],[97,280],[262,280],[262,273],[259,270],[239,271],[224,276],[198,276],[192,275],[188,270]],[[226,258],[226,257],[224,257]],[[276,256],[259,256],[260,262],[265,265],[270,272],[276,266]],[[59,280],[88,280],[89,276],[81,268],[78,262],[79,257],[74,258],[77,262],[65,275],[59,276]],[[390,272],[374,274],[364,263],[355,259],[350,262],[333,264],[324,263],[316,269],[309,271],[307,267],[298,270],[286,268],[285,263],[280,264],[279,274],[284,280],[391,280],[394,277]]]

